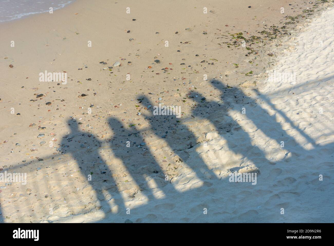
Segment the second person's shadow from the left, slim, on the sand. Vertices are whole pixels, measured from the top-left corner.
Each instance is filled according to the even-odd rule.
[[[159,198],[153,196],[154,188],[163,191],[163,196],[167,197],[170,192],[175,192],[169,179],[165,179],[167,173],[161,169],[136,127],[125,125],[116,117],[109,118],[109,125],[114,133],[110,148],[121,159],[134,181],[135,184],[130,183],[132,188],[137,187],[135,189],[143,192],[150,200]],[[159,196],[158,193],[155,195]]]

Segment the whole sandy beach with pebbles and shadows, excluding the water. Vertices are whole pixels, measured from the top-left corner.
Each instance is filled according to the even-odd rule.
[[[333,223],[333,26],[332,0],[0,22],[0,222]]]

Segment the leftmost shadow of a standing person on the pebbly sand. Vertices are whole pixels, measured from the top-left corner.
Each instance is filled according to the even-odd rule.
[[[125,215],[126,210],[116,179],[99,152],[102,142],[92,134],[81,131],[76,120],[68,120],[67,123],[71,131],[66,134],[66,137],[63,137],[61,151],[76,160],[81,175],[87,179],[87,183],[96,193],[105,218],[106,214],[111,211]],[[112,203],[117,208],[113,208]]]

